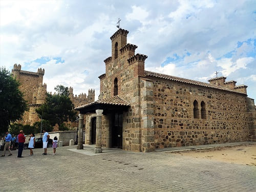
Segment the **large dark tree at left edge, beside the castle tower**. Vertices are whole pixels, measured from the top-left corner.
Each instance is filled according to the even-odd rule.
[[[22,119],[28,109],[22,92],[18,89],[19,83],[5,68],[0,68],[0,133],[8,130],[11,121]]]

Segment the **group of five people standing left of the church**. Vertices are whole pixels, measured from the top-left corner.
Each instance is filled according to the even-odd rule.
[[[44,136],[42,137],[42,148],[44,148],[44,153],[42,153],[42,155],[47,155],[47,146],[48,146],[48,140],[50,138],[50,135],[48,134],[48,132],[46,130],[44,131]],[[11,156],[11,150],[10,150],[10,142],[11,139],[13,137],[11,136],[11,134],[9,132],[6,132],[6,136],[5,136],[5,146],[4,146],[4,153],[1,157],[4,157],[6,154],[6,151],[8,150],[9,155]],[[22,152],[23,152],[23,148],[24,148],[24,143],[25,143],[26,137],[25,134],[23,132],[23,130],[20,130],[19,135],[17,135],[16,137],[16,143],[18,143],[18,158],[23,158],[22,156]],[[53,142],[52,142],[52,147],[53,147],[53,155],[56,154],[56,148],[57,148],[57,142],[58,142],[58,138],[54,137]],[[29,137],[29,150],[30,150],[30,155],[32,156],[34,155],[33,153],[33,148],[35,147],[35,134],[31,133],[30,137]]]

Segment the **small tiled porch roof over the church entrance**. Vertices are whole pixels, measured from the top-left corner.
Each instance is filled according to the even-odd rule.
[[[90,106],[90,105],[93,105],[93,104],[96,104],[96,103],[130,106],[130,104],[128,102],[124,101],[123,99],[121,99],[118,96],[114,96],[114,97],[111,97],[111,98],[108,98],[108,99],[98,99],[97,101],[78,106],[77,108],[75,108],[75,110],[86,108],[87,106]]]

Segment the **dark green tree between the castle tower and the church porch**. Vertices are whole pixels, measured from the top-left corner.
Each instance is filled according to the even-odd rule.
[[[62,89],[63,86],[58,87],[62,91],[68,89]],[[36,112],[42,116],[42,119],[48,120],[51,126],[54,126],[56,123],[60,125],[67,120],[75,120],[76,118],[76,111],[74,111],[72,101],[66,94],[66,91],[62,91],[58,91],[56,95],[48,93],[46,102],[36,109]]]

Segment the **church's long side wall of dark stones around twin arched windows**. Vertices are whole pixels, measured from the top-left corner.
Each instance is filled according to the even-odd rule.
[[[185,83],[154,80],[155,147],[247,141],[246,96]],[[194,118],[194,100],[199,118]],[[200,103],[206,106],[201,118]]]

